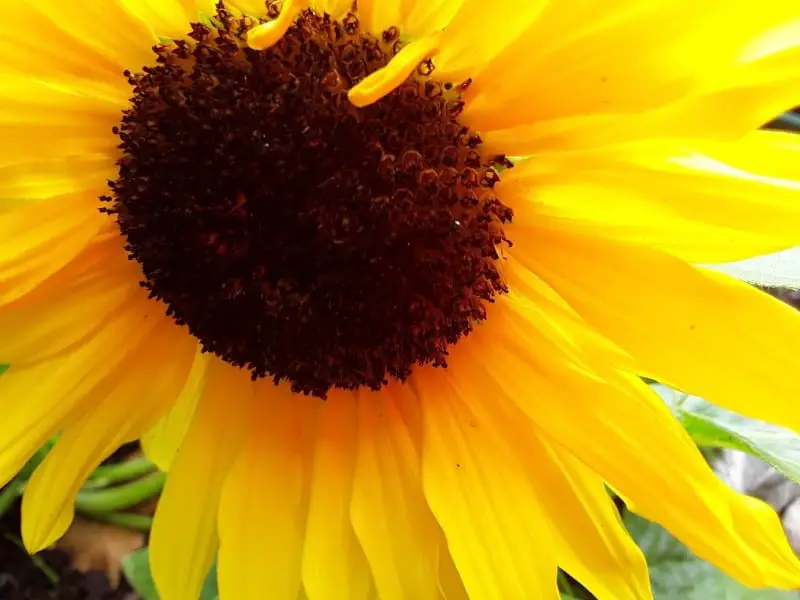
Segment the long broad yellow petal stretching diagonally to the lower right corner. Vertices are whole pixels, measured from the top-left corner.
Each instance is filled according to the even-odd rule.
[[[503,302],[496,312],[508,308]],[[514,401],[548,439],[702,558],[750,586],[797,587],[800,561],[775,512],[725,486],[652,390],[607,361],[586,373],[539,335],[526,315],[517,320],[523,343],[491,320],[473,334],[483,356],[473,368],[486,370],[497,395]],[[591,345],[579,331],[571,334]]]

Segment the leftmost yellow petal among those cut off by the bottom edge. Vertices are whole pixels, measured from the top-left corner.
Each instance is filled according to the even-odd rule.
[[[150,536],[150,568],[163,600],[200,595],[217,549],[223,482],[251,424],[252,388],[248,373],[212,360]]]

